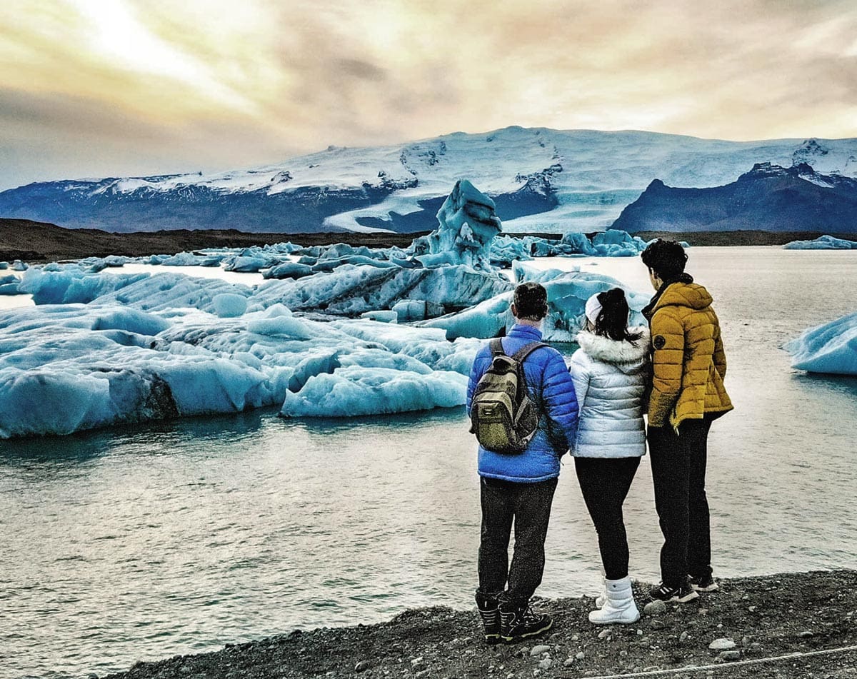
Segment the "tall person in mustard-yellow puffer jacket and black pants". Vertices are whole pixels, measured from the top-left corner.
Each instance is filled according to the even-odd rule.
[[[651,598],[686,602],[714,592],[705,465],[711,422],[732,410],[726,354],[711,296],[685,273],[680,243],[658,238],[642,254],[655,296],[649,320],[652,385],[649,454],[663,533],[660,585]]]

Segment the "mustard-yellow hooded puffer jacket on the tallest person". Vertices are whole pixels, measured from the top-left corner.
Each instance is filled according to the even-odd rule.
[[[711,296],[690,276],[664,284],[643,310],[652,342],[649,426],[678,430],[686,419],[732,410],[723,387],[726,354]]]

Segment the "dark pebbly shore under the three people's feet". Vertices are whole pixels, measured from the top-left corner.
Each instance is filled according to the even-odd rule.
[[[646,588],[635,584],[638,602]],[[296,631],[219,652],[138,663],[111,679],[857,677],[857,571],[722,580],[720,592],[667,604],[661,614],[644,614],[633,625],[591,625],[591,606],[589,597],[543,600],[540,607],[554,616],[554,629],[519,644],[486,646],[475,609],[434,607],[377,625]],[[711,641],[722,638],[736,644],[727,658],[709,650]],[[531,655],[540,645],[547,649]],[[666,671],[653,674],[658,670]]]

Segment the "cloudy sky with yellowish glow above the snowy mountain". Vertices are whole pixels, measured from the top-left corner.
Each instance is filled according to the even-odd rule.
[[[0,3],[0,190],[508,125],[857,136],[857,2]]]

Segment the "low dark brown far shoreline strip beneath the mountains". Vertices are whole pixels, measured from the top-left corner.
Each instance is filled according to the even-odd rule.
[[[349,243],[369,248],[393,245],[405,248],[427,231],[417,233],[245,233],[243,231],[137,231],[109,233],[96,229],[63,229],[60,226],[28,219],[0,219],[0,261],[59,261],[82,257],[125,255],[173,255],[203,248],[247,248],[291,241],[304,246]],[[516,234],[510,234],[516,235]],[[517,234],[560,238],[556,233]],[[641,232],[654,237],[685,240],[691,245],[782,245],[793,240],[812,240],[820,232],[773,233],[769,231],[708,231],[699,233]],[[836,234],[830,234],[836,236]],[[854,238],[854,234],[837,237]]]

